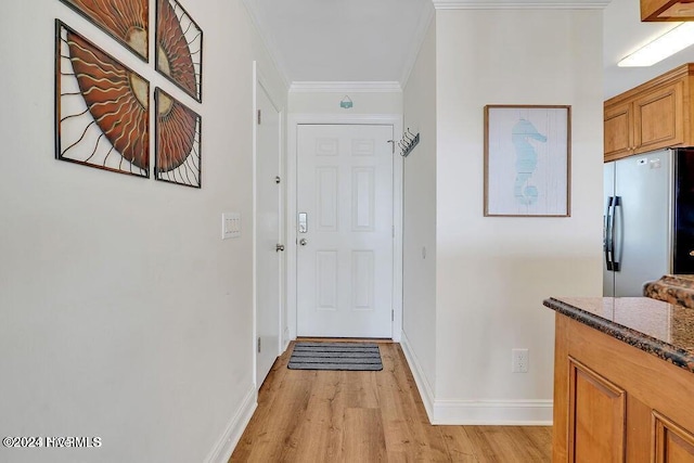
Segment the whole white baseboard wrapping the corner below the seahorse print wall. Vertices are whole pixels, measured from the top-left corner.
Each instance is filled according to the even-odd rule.
[[[480,426],[552,425],[552,400],[436,399],[434,389],[424,375],[424,370],[404,333],[401,335],[400,345],[432,424]]]

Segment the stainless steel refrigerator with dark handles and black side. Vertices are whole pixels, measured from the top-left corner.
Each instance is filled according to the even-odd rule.
[[[694,149],[605,164],[603,294],[642,296],[666,273],[694,273]]]

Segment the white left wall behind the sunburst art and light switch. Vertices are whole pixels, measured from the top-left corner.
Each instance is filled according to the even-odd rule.
[[[55,160],[55,17],[183,97],[60,1],[4,5],[0,436],[103,446],[0,461],[223,460],[255,402],[255,33],[240,1],[183,3],[205,33],[202,190]],[[234,210],[243,235],[222,242]]]

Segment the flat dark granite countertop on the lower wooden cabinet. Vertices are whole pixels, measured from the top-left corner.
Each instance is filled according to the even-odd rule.
[[[648,297],[550,297],[557,312],[694,373],[694,310]]]

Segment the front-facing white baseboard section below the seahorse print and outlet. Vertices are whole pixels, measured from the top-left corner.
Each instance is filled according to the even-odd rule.
[[[432,424],[550,426],[552,400],[435,400]]]

